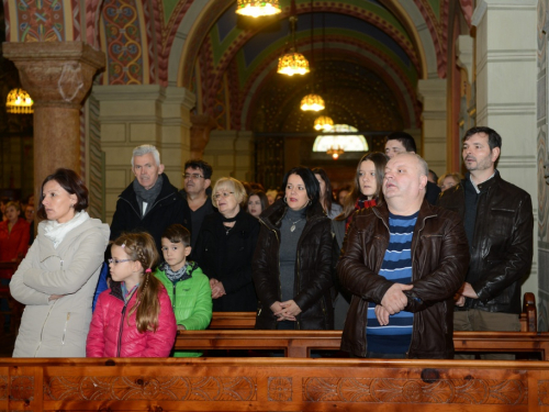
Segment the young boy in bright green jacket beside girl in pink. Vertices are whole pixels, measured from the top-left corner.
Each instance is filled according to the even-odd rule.
[[[190,244],[191,234],[183,225],[168,226],[161,238],[165,263],[155,272],[171,299],[178,331],[201,331],[212,320],[210,280],[194,261],[187,261]],[[198,357],[202,352],[176,350],[173,356]]]

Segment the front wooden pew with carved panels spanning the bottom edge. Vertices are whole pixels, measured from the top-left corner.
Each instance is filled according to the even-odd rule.
[[[547,412],[545,361],[0,359],[5,411]]]

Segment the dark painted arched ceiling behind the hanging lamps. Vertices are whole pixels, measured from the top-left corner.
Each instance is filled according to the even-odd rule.
[[[235,3],[205,8],[183,51],[180,83],[197,92],[197,111],[214,116],[220,129],[310,132],[314,116],[301,112],[299,102],[313,89],[337,123],[359,130],[418,126],[415,90],[429,74],[426,60],[441,48],[448,0],[406,0],[423,23],[396,0],[313,1],[312,9],[311,1],[298,0],[296,47],[313,71],[294,78],[276,73],[289,47],[290,0],[281,0],[280,15],[257,20],[237,16]],[[432,56],[414,20],[433,27]],[[442,66],[436,63],[438,71]]]

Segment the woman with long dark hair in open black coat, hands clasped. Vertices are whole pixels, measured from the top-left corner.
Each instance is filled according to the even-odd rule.
[[[318,181],[310,169],[295,167],[283,187],[285,197],[259,218],[256,329],[334,329],[330,220],[318,201]]]

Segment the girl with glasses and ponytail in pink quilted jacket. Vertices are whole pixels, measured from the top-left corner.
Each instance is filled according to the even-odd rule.
[[[165,357],[177,324],[166,289],[153,275],[158,260],[148,233],[123,234],[109,259],[111,289],[99,296],[86,344],[88,357]]]

